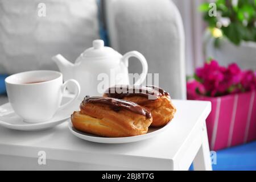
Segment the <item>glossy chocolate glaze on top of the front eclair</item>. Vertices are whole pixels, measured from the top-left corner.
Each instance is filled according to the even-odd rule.
[[[106,104],[109,105],[109,107],[114,111],[126,109],[133,113],[144,115],[147,119],[152,117],[150,111],[146,108],[139,106],[134,102],[119,100],[117,98],[86,96],[80,105],[81,109],[86,103]]]

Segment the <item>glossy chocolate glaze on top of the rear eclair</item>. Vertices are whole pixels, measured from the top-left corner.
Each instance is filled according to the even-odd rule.
[[[159,98],[162,96],[169,96],[168,92],[154,85],[147,85],[147,86],[116,85],[106,90],[105,94],[108,97],[119,98],[119,99],[122,99],[124,97],[129,97],[129,96],[141,96],[141,97],[146,97],[150,100],[156,100],[156,98]]]

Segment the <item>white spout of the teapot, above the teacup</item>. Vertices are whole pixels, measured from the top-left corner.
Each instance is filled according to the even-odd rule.
[[[73,78],[73,67],[74,64],[69,62],[65,57],[58,54],[52,57],[52,60],[57,64],[60,72],[63,73],[64,81]]]

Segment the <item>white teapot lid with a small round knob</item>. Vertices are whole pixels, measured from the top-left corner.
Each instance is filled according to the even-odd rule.
[[[121,56],[120,53],[111,47],[104,46],[104,41],[97,39],[93,40],[93,47],[86,49],[80,58],[104,58],[104,57]]]

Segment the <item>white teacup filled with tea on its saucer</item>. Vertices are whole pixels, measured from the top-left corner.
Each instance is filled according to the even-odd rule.
[[[61,104],[67,84],[73,83],[76,93],[73,99]],[[16,114],[30,123],[51,119],[57,110],[68,107],[80,94],[76,80],[67,80],[56,71],[29,71],[11,75],[5,79],[7,96]]]

